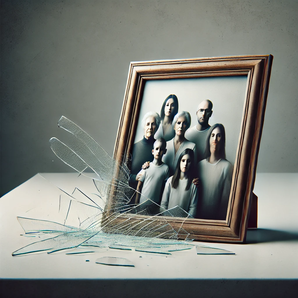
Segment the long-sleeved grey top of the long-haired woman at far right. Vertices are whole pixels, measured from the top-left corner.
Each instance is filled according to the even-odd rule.
[[[210,164],[207,159],[198,163],[201,180],[198,218],[225,220],[227,215],[233,166],[226,159]]]

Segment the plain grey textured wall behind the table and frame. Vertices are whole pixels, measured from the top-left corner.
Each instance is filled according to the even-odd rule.
[[[1,194],[72,169],[61,115],[112,154],[130,61],[274,55],[258,172],[297,172],[297,1],[1,1]],[[237,112],[237,111],[236,111]]]

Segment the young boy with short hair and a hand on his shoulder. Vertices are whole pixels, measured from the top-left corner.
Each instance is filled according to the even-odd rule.
[[[138,192],[135,204],[143,203],[147,201],[147,198],[159,203],[162,186],[169,178],[169,167],[162,162],[162,156],[167,152],[166,146],[167,142],[164,138],[157,139],[152,150],[153,162],[150,163],[148,169],[141,170],[136,176],[136,180],[139,182],[136,188]]]

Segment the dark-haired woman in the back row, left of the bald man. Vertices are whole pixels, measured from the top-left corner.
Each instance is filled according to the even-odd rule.
[[[170,94],[163,102],[160,111],[161,123],[156,131],[154,138],[164,138],[167,141],[173,139],[175,130],[172,128],[172,122],[175,115],[178,113],[178,98],[175,94]]]

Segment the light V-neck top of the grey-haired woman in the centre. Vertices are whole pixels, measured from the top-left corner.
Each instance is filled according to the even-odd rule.
[[[182,142],[178,151],[175,155],[174,139],[167,141],[167,152],[162,156],[162,161],[167,164],[170,168],[170,175],[173,175],[176,170],[176,165],[179,159],[180,154],[187,148],[190,148],[195,153],[195,164],[197,164],[197,148],[195,143],[188,141],[187,139]]]

